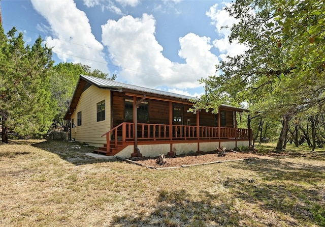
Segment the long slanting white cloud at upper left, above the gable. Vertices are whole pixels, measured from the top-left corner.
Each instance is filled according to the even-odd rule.
[[[86,14],[77,9],[73,0],[31,0],[31,3],[50,24],[53,35],[46,37],[45,42],[49,47],[54,46],[53,51],[60,60],[82,63],[108,73],[104,47],[91,33]]]

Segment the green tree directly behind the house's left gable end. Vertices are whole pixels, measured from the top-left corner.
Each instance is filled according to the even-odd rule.
[[[99,78],[106,78],[115,80],[116,74],[112,77],[108,77],[107,73],[103,73],[98,69],[91,70],[87,65],[80,63],[59,63],[53,67],[53,73],[50,78],[51,81],[51,93],[54,100],[57,102],[57,111],[53,119],[55,127],[60,125],[64,130],[69,129],[69,122],[63,119],[71,98],[73,96],[74,89],[79,79],[80,74],[90,75]]]

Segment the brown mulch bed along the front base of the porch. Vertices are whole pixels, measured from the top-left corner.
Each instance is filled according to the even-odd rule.
[[[217,152],[200,152],[192,153],[188,155],[177,155],[175,157],[166,156],[166,161],[169,164],[159,165],[156,163],[157,157],[136,157],[128,158],[129,160],[136,161],[142,165],[152,166],[152,167],[178,167],[184,165],[196,165],[217,161],[229,161],[229,160],[238,160],[238,159],[247,159],[247,158],[257,158],[260,157],[257,154],[253,153],[242,153],[242,152],[227,152],[224,157],[218,156]]]

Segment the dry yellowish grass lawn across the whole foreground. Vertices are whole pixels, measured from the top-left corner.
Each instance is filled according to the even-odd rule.
[[[325,226],[324,150],[157,170],[92,149],[0,145],[0,226]]]

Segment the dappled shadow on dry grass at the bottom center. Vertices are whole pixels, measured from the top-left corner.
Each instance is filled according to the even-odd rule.
[[[161,190],[158,191],[156,205],[151,213],[116,215],[110,226],[242,226],[243,220],[252,225],[262,225],[262,222],[252,221],[249,216],[239,214],[234,200],[223,195],[202,191],[200,201],[193,201],[185,190]]]

